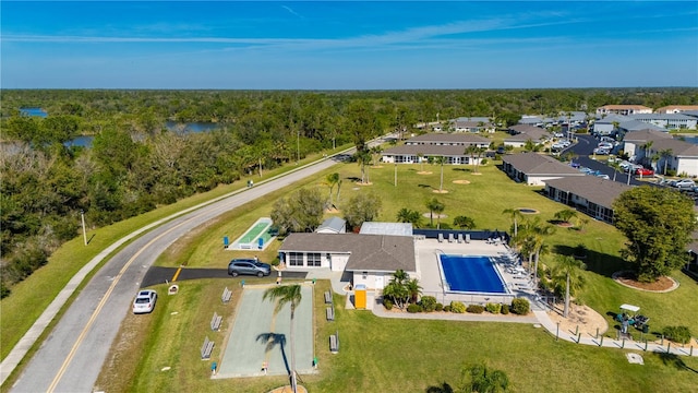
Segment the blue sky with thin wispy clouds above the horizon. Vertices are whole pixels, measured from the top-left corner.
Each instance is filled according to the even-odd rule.
[[[698,2],[0,2],[2,88],[698,86]]]

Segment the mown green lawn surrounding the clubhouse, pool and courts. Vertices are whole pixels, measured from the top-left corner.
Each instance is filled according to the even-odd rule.
[[[445,194],[433,192],[440,188],[441,168],[425,165],[424,169],[432,174],[418,175],[418,165],[398,165],[396,187],[393,165],[370,168],[372,186],[358,187],[351,179],[360,177],[359,166],[338,165],[277,195],[286,195],[301,187],[318,187],[328,193],[323,179],[326,174],[338,171],[344,180],[338,203],[335,198],[339,209],[357,193],[375,192],[383,201],[378,221],[395,221],[401,207],[428,213],[425,202],[433,196],[446,205],[444,214],[448,217],[442,223],[449,224],[453,217],[467,215],[483,229],[508,230],[512,223],[502,214],[505,209],[535,209],[543,222],[564,209],[541,195],[540,189],[515,183],[492,165],[480,167],[482,175],[473,175],[466,167],[445,166],[444,189],[448,191]],[[468,180],[469,183],[458,184],[455,180]],[[156,263],[222,269],[233,257],[256,254],[262,261],[274,260],[279,241],[274,241],[263,252],[252,252],[222,250],[220,239],[224,236],[237,238],[258,217],[268,216],[276,198],[254,201],[191,231]],[[553,252],[570,251],[578,243],[588,248],[586,262],[589,269],[583,273],[587,284],[580,299],[600,313],[616,311],[621,303],[629,302],[640,306],[642,312],[651,317],[653,331],[665,325],[687,325],[694,334],[698,332],[698,319],[695,318],[698,285],[695,281],[675,272],[673,277],[681,283],[677,290],[650,294],[623,287],[610,278],[614,271],[627,267],[618,257],[624,238],[612,226],[590,221],[582,231],[557,228],[545,241]],[[77,246],[81,245],[73,245],[72,250],[80,251]],[[552,265],[553,257],[543,255],[542,261]],[[163,296],[153,314],[136,320],[129,315],[105,365],[99,388],[109,392],[262,392],[284,384],[287,379],[277,377],[210,380],[210,364],[198,359],[204,336],[212,334],[207,324],[213,312],[225,318],[234,312],[215,300],[219,299],[225,286],[238,288],[236,283],[238,279],[232,278],[182,282],[180,295]],[[322,297],[328,283],[318,282],[317,285],[315,296]],[[165,294],[165,287],[158,287],[158,290]],[[234,290],[233,299],[239,295]],[[424,392],[443,382],[457,385],[462,364],[480,360],[505,370],[517,392],[690,391],[698,378],[696,358],[642,354],[646,365],[635,366],[627,362],[622,350],[555,342],[543,330],[529,325],[383,320],[370,312],[344,310],[344,298],[339,296],[335,296],[336,321],[326,322],[323,301],[315,300],[321,372],[302,377],[311,392]],[[3,334],[4,320],[3,309]],[[611,319],[609,322],[613,325]],[[341,348],[338,355],[330,355],[327,337],[336,330],[340,334]],[[3,338],[3,354],[4,347]],[[214,357],[217,350],[214,350]],[[164,367],[171,369],[161,371]]]

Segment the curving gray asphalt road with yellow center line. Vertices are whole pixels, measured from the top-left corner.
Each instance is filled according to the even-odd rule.
[[[351,154],[351,152],[344,153]],[[133,240],[111,258],[79,294],[10,391],[32,393],[92,392],[121,321],[130,312],[132,298],[141,286],[141,281],[151,264],[167,247],[188,231],[220,214],[335,164],[337,162],[333,158],[323,159],[257,183],[254,188],[243,189],[214,202],[202,204],[185,214],[168,217],[160,226]],[[129,239],[132,237],[130,236]],[[119,242],[127,240],[122,239]],[[107,254],[107,252],[103,252],[98,258],[104,259]],[[88,272],[87,269],[86,271]],[[82,274],[84,278],[87,272],[81,272],[79,274]],[[76,283],[71,281],[72,284],[67,286],[70,294],[82,281],[81,277],[76,278],[79,278]],[[70,294],[65,296],[65,299]],[[52,312],[58,312],[62,305],[52,303],[52,306],[49,307],[55,309]],[[50,321],[53,317],[55,314],[41,315],[40,320]],[[36,326],[37,324],[38,326]],[[33,333],[31,331],[27,336],[38,337],[40,335],[46,322],[39,323],[37,321],[37,324],[32,329],[38,329],[38,334],[36,331]],[[31,338],[28,340],[31,341]],[[31,347],[28,344],[32,343],[24,341],[23,338],[20,342],[22,345],[17,344],[15,349],[22,347],[19,350],[26,353]],[[8,359],[17,359],[16,360],[19,361],[23,356],[23,354],[21,356],[9,355],[5,358],[2,364],[2,382],[16,366],[16,364],[11,365]]]

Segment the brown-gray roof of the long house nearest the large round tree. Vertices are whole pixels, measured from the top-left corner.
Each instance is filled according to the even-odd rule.
[[[597,176],[544,180],[545,184],[571,192],[598,205],[611,209],[613,201],[631,187]]]

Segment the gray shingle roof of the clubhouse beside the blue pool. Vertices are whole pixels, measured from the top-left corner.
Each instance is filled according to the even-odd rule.
[[[414,238],[360,234],[290,234],[279,252],[349,253],[346,270],[365,272],[416,272]]]

